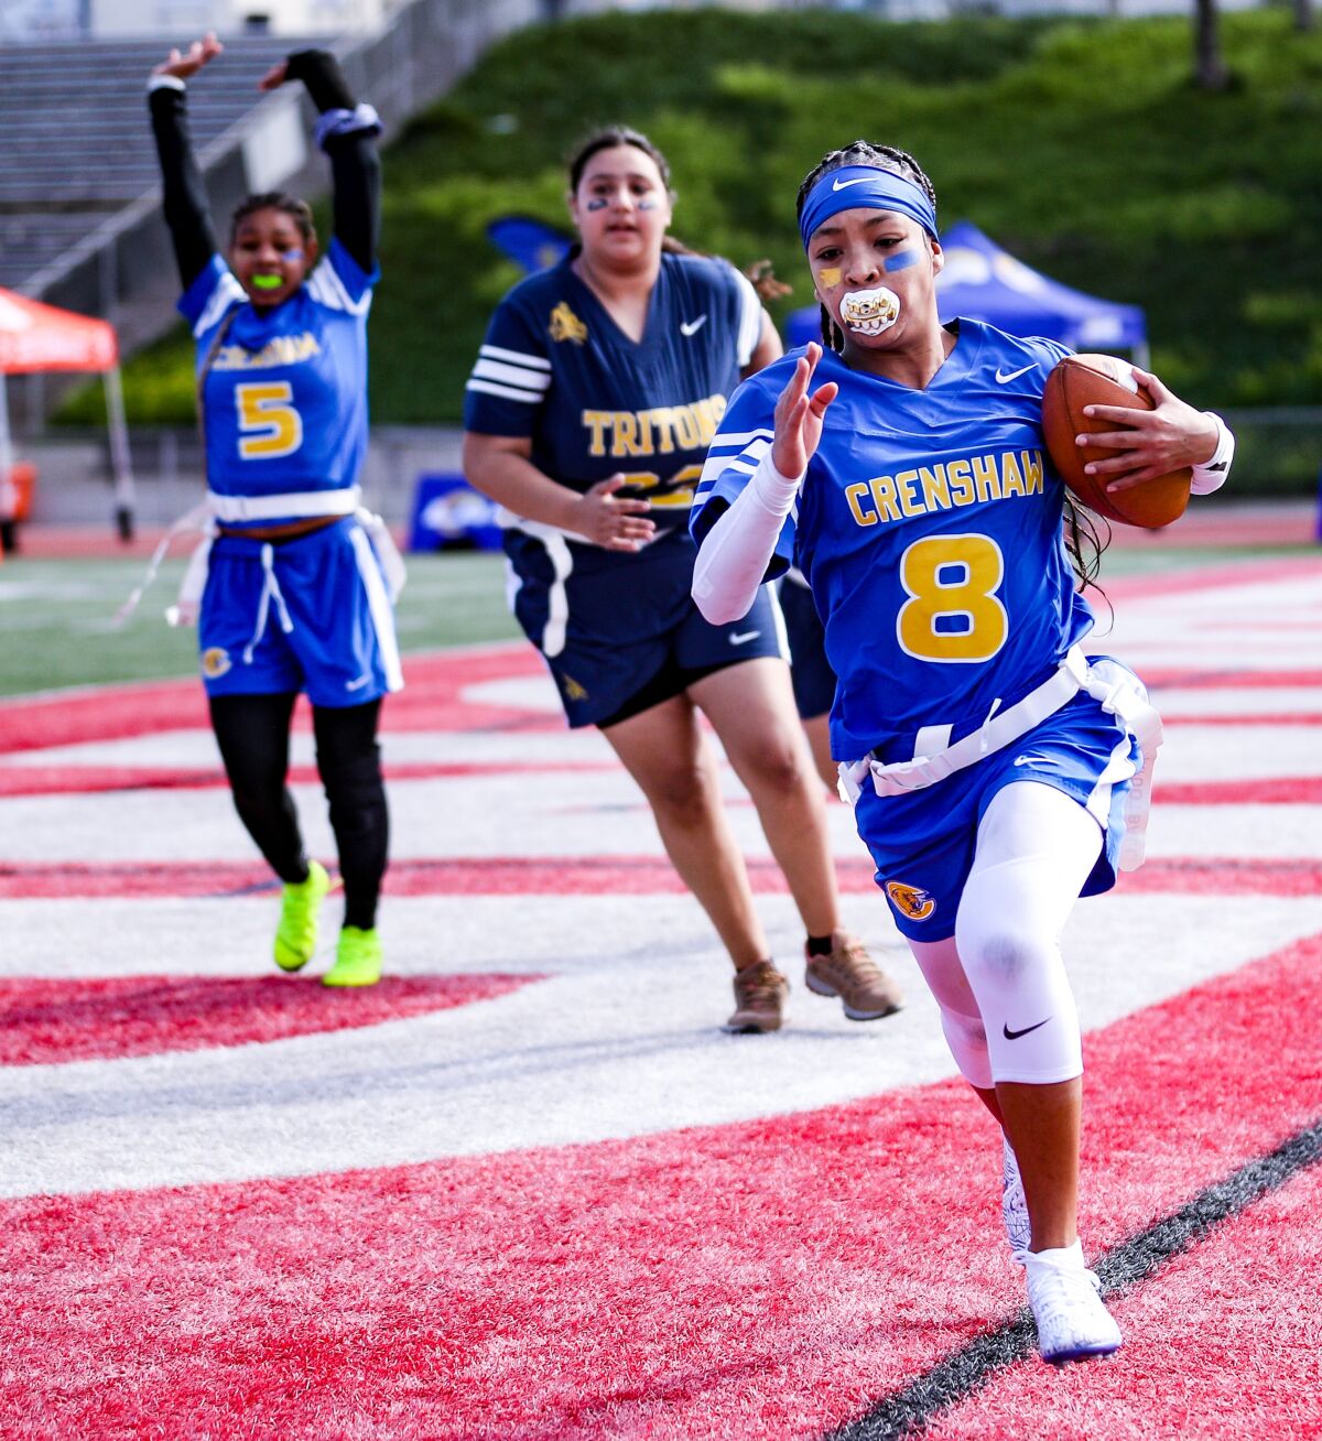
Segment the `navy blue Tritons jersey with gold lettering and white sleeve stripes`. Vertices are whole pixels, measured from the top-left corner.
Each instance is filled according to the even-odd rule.
[[[649,500],[659,530],[686,533],[706,447],[761,316],[753,285],[728,262],[666,254],[634,342],[567,258],[497,307],[469,379],[464,428],[528,437],[532,463],[571,490],[620,471],[629,477],[621,494]],[[568,539],[580,565],[631,559]],[[509,549],[518,565],[516,537]]]

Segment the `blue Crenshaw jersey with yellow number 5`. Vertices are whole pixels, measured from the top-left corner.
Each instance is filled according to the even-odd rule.
[[[274,310],[254,307],[219,255],[185,291],[179,308],[193,327],[199,373],[206,366],[212,491],[280,496],[355,484],[368,445],[366,326],[376,278],[333,239]],[[262,523],[272,520],[280,517]]]

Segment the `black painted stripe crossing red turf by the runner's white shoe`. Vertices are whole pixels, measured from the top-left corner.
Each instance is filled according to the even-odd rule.
[[[1189,1251],[1224,1221],[1283,1186],[1292,1176],[1322,1160],[1322,1121],[1297,1131],[1267,1156],[1208,1186],[1179,1210],[1107,1251],[1094,1270],[1107,1300],[1156,1275],[1171,1259]],[[888,1441],[914,1437],[937,1414],[980,1391],[998,1372],[1034,1355],[1037,1329],[1024,1307],[1003,1326],[988,1331],[911,1380],[823,1441]]]

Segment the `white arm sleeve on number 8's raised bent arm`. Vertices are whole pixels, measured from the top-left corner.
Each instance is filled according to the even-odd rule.
[[[693,566],[693,599],[714,625],[748,614],[802,483],[803,476],[781,476],[768,450],[706,533]]]

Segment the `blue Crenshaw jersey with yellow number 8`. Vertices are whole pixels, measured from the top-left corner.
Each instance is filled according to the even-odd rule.
[[[731,401],[693,506],[699,540],[770,450],[802,353]],[[924,391],[823,354],[813,386],[840,391],[768,575],[794,563],[812,585],[839,677],[836,757],[907,758],[927,725],[967,732],[1045,680],[1093,625],[1042,438],[1042,386],[1068,353],[960,320]]]

